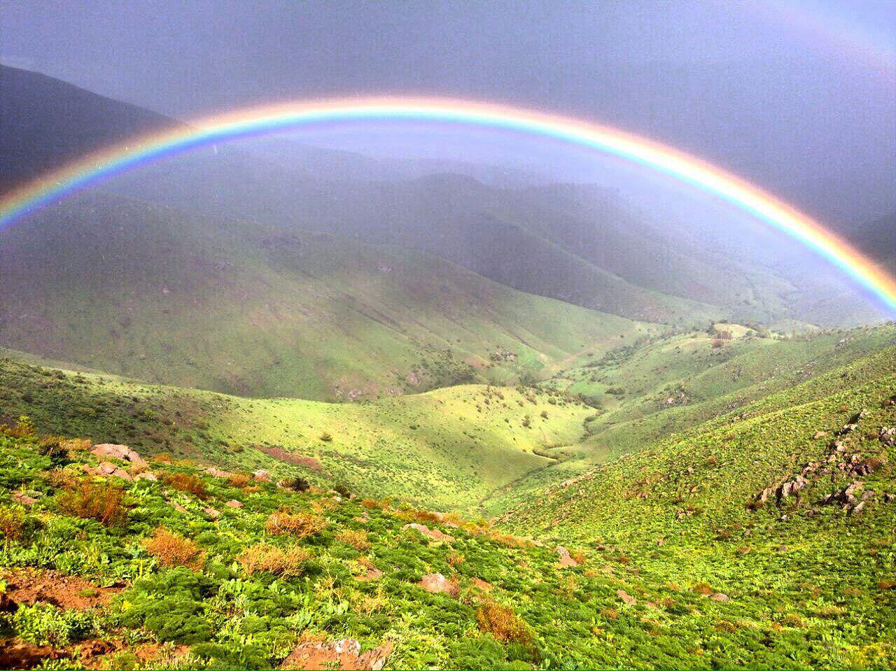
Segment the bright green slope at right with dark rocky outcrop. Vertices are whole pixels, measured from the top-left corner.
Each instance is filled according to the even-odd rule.
[[[614,637],[626,666],[674,645],[672,666],[892,667],[894,392],[896,348],[884,348],[573,478],[501,523],[593,548],[636,600],[599,627],[654,628],[646,647]],[[682,608],[683,594],[707,596]],[[665,642],[673,634],[687,642]]]

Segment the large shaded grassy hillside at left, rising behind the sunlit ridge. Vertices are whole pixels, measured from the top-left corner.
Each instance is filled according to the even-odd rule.
[[[658,328],[409,250],[99,194],[0,232],[0,291],[0,345],[255,396],[512,381]]]

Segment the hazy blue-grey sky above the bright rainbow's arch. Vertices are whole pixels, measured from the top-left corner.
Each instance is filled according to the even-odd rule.
[[[616,125],[823,219],[896,208],[896,2],[0,0],[0,59],[189,119],[450,95]]]

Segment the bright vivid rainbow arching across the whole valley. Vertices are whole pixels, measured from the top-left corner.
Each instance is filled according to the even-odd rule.
[[[896,280],[821,224],[754,185],[657,142],[564,116],[452,99],[331,99],[213,116],[98,151],[41,176],[0,200],[0,229],[104,177],[198,147],[314,125],[409,121],[527,133],[615,155],[675,177],[732,203],[796,238],[896,313]]]

